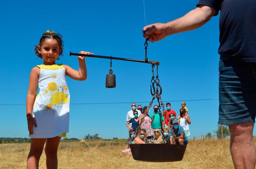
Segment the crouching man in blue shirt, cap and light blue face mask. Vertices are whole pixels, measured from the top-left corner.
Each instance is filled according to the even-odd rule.
[[[176,143],[179,143],[179,145],[187,145],[187,136],[185,135],[184,133],[184,130],[183,130],[183,127],[182,126],[179,126],[179,122],[178,120],[174,120],[173,121],[173,125],[172,125],[172,129],[173,129],[173,132],[174,134],[176,135],[176,140],[175,142]],[[173,144],[174,142],[174,137],[173,137],[173,132],[172,130],[170,129],[169,130],[169,135],[170,135],[170,144]]]

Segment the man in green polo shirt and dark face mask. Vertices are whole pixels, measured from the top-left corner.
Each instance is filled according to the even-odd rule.
[[[162,128],[164,128],[164,117],[162,115],[162,123],[160,123],[160,116],[159,116],[160,112],[158,111],[158,106],[154,105],[154,112],[153,114],[150,115],[150,118],[153,120],[153,116],[154,116],[154,120],[153,122],[151,122],[151,130],[154,133],[155,129],[157,129],[160,133],[161,133],[161,126]],[[153,134],[154,138],[155,135]],[[161,137],[162,137],[162,133],[161,133]]]

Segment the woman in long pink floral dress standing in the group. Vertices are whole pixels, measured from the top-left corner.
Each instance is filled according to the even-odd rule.
[[[154,117],[153,119],[150,119],[149,115],[146,113],[147,111],[149,111],[147,106],[144,106],[142,109],[142,115],[139,116],[139,124],[141,129],[145,129],[147,132],[147,139],[151,139],[154,138],[153,136],[153,131],[151,130],[151,123],[154,121]]]

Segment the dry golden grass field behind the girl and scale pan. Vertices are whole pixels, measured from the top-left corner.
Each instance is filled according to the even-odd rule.
[[[254,138],[256,142],[256,138]],[[124,141],[109,145],[109,141],[60,142],[58,150],[59,169],[83,168],[234,168],[229,152],[229,139],[189,140],[184,158],[179,162],[151,163],[135,161],[122,155]],[[26,168],[29,143],[0,144],[0,169]],[[45,154],[41,156],[40,168],[46,168]]]

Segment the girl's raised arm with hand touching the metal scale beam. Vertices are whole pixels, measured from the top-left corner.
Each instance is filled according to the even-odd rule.
[[[81,51],[79,54],[88,54],[88,55],[93,55],[93,53],[90,52],[84,52]],[[84,61],[84,57],[78,56],[78,62],[79,62],[79,70],[74,70],[68,65],[64,65],[66,74],[72,79],[75,80],[85,80],[87,78],[87,70],[86,70],[86,65]]]

